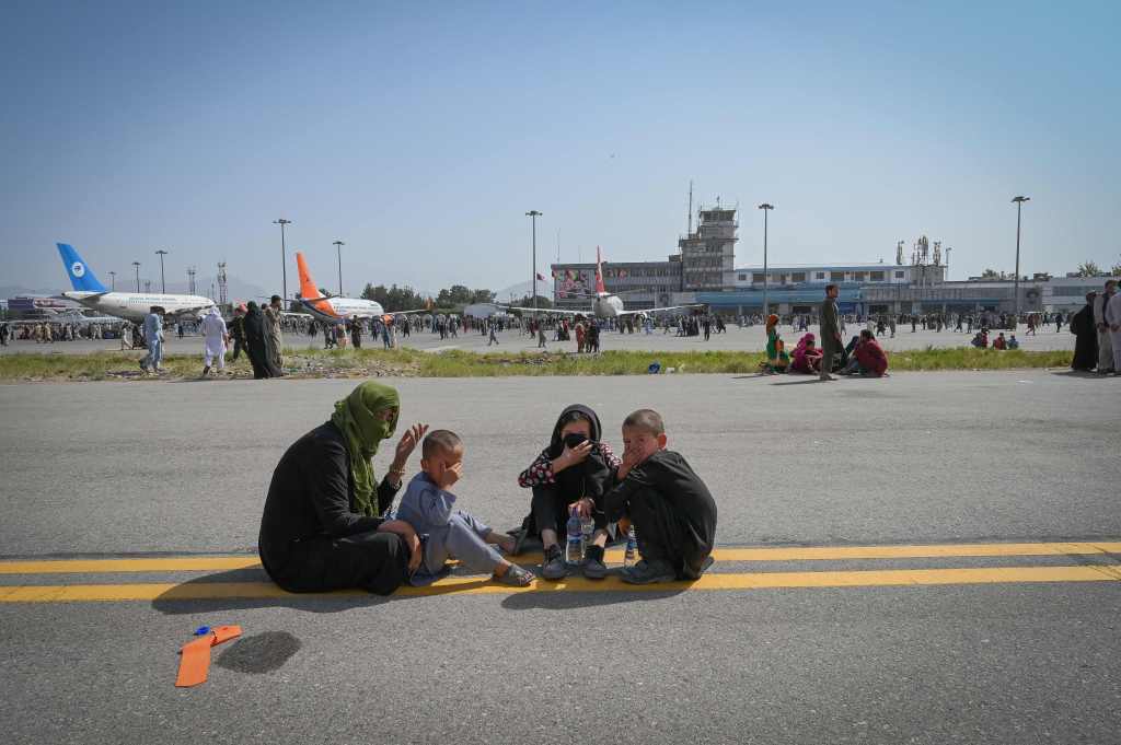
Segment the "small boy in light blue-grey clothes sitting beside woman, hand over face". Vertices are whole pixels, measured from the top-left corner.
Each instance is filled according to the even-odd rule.
[[[488,571],[503,585],[525,587],[534,575],[510,564],[491,546],[512,552],[515,540],[495,533],[473,515],[453,509],[455,495],[447,490],[463,475],[463,441],[450,430],[437,429],[424,439],[420,468],[401,497],[397,520],[404,520],[420,537],[423,559],[409,578],[427,585],[446,572],[445,562],[458,559],[467,569]]]

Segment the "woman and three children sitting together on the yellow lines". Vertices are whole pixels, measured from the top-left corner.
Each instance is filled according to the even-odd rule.
[[[362,383],[280,458],[258,540],[261,565],[277,585],[294,593],[362,588],[389,595],[435,581],[457,560],[492,581],[524,587],[536,578],[510,559],[530,541],[544,547],[545,579],[577,569],[602,579],[606,544],[631,536],[641,560],[622,570],[626,583],[697,579],[712,565],[716,502],[688,462],[667,449],[665,422],[651,409],[623,420],[620,458],[604,441],[595,411],[566,407],[548,445],[517,477],[530,490],[529,514],[504,533],[464,510],[452,491],[465,473],[467,443],[451,430],[409,427],[388,473],[376,478],[371,459],[393,436],[399,416],[397,390]],[[417,445],[420,468],[406,486]],[[569,519],[591,523],[578,562],[560,549]]]

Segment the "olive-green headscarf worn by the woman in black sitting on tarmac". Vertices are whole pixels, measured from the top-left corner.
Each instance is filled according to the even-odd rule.
[[[398,410],[389,421],[377,416],[387,409]],[[378,444],[393,436],[399,412],[400,399],[395,389],[365,382],[335,403],[335,413],[331,417],[331,421],[342,431],[350,451],[354,506],[358,512],[371,518],[378,516],[378,506],[373,495],[376,485],[370,459],[378,451]]]

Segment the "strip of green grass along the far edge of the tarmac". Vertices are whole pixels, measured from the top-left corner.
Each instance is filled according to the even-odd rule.
[[[96,354],[10,354],[0,356],[0,380],[89,381],[140,379],[141,352]],[[663,372],[753,373],[761,352],[621,352],[597,355],[532,353],[480,354],[452,350],[293,350],[285,354],[285,372],[293,378],[500,378],[508,375],[645,375],[651,362]],[[889,353],[891,371],[1013,370],[1066,367],[1071,352],[998,352],[973,347],[915,350]],[[164,379],[197,378],[202,355],[172,355]],[[226,376],[251,378],[245,357],[226,363]]]

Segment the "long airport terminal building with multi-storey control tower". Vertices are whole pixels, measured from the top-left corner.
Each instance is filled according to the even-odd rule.
[[[678,251],[665,261],[603,262],[603,283],[628,309],[701,302],[723,315],[763,313],[762,266],[735,267],[736,211],[698,211],[696,230],[682,235]],[[933,245],[933,250],[932,250]],[[904,242],[896,262],[768,266],[767,305],[770,313],[813,314],[826,285],[837,285],[837,305],[846,314],[1010,313],[1017,304],[1012,279],[947,281],[941,242],[919,238],[904,262]],[[946,250],[948,258],[948,251]],[[610,259],[610,257],[609,257]],[[595,291],[595,264],[555,263],[553,300],[556,307],[589,307]],[[1050,278],[1037,274],[1019,283],[1021,313],[1077,310],[1085,295],[1101,290],[1101,278]]]

